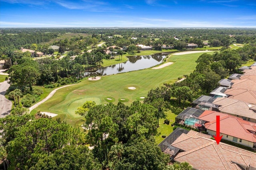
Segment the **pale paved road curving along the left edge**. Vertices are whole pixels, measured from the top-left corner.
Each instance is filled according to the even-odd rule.
[[[7,81],[0,83],[0,118],[6,117],[10,114],[12,109],[12,102],[5,98],[6,90],[10,87]]]

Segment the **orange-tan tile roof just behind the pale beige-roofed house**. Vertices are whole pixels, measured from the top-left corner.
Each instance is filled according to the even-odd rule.
[[[226,92],[228,98],[245,101],[247,103],[256,104],[256,91],[246,89],[228,89]]]

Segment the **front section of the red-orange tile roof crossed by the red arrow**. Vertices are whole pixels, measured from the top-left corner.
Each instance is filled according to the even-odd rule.
[[[256,142],[256,134],[253,134],[246,129],[246,127],[248,128],[248,126],[251,126],[249,127],[250,129],[254,129],[253,126],[250,123],[247,124],[244,122],[246,121],[230,115],[222,117],[220,118],[220,133],[234,136],[236,138],[240,138],[250,142]],[[246,125],[246,127],[244,127],[244,124]],[[216,132],[216,120],[205,123],[204,126],[205,128]]]

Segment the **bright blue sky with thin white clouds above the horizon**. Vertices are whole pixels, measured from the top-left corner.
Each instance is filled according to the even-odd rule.
[[[256,28],[256,0],[0,0],[5,27]]]

